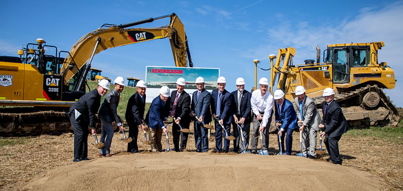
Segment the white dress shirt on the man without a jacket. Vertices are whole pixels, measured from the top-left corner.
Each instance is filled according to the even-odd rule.
[[[272,114],[272,108],[274,104],[274,98],[272,93],[266,91],[266,93],[261,96],[260,90],[256,89],[252,92],[252,97],[250,99],[250,105],[252,107],[252,112],[257,116],[260,112],[264,112],[262,119],[262,126],[265,127],[268,118]]]

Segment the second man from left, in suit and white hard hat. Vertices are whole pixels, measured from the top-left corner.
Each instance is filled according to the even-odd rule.
[[[101,142],[105,144],[105,147],[99,149],[99,156],[112,156],[110,154],[110,146],[113,138],[113,126],[112,122],[115,121],[119,130],[123,129],[123,125],[120,122],[120,117],[117,115],[117,106],[119,105],[120,93],[124,89],[124,79],[121,76],[115,79],[115,88],[106,94],[104,102],[99,108],[99,119],[101,120]]]

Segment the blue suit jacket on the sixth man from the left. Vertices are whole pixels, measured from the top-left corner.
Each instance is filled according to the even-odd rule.
[[[211,122],[210,104],[211,94],[206,89],[201,90],[200,95],[197,97],[197,90],[193,92],[191,111],[193,111],[197,117],[203,116],[203,122],[208,124]]]

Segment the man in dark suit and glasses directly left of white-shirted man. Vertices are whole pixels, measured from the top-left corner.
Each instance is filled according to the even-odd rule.
[[[234,152],[239,151],[239,142],[241,136],[244,137],[245,145],[241,144],[241,151],[246,151],[249,145],[249,132],[250,132],[250,123],[252,122],[251,116],[251,105],[250,98],[252,97],[252,93],[245,90],[245,80],[242,77],[238,77],[236,79],[236,87],[237,90],[232,92],[233,103],[232,103],[232,113],[234,117],[234,121],[232,122],[232,129],[234,131]],[[240,130],[238,125],[241,126],[243,135],[240,136]],[[245,146],[245,147],[244,147]]]

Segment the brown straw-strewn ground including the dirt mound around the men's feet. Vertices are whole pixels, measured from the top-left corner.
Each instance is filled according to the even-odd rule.
[[[294,132],[291,156],[275,156],[279,152],[276,134],[270,135],[270,155],[265,156],[215,153],[214,130],[209,139],[209,152],[194,152],[192,129],[191,126],[187,150],[183,152],[150,152],[150,146],[141,142],[144,136],[139,133],[140,152],[127,153],[127,144],[119,140],[123,135],[115,133],[112,157],[97,156],[98,149],[90,144],[95,142],[94,137],[89,135],[91,160],[77,163],[73,162],[72,133],[28,138],[25,144],[2,147],[0,189],[403,189],[403,145],[399,143],[344,135],[340,141],[343,165],[335,165],[326,162],[327,152],[318,152],[316,159],[295,156],[299,153],[297,132]],[[173,148],[172,134],[169,143]],[[167,147],[164,136],[162,145],[164,149]],[[231,142],[230,151],[232,148]]]

